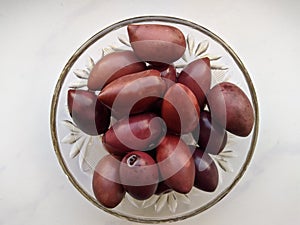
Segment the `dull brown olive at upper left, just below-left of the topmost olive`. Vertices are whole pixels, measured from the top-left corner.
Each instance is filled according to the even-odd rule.
[[[100,59],[91,71],[88,88],[101,90],[113,80],[146,69],[146,64],[138,59],[132,51],[110,53]]]

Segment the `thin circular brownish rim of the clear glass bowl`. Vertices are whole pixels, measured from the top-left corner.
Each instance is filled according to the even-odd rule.
[[[164,219],[152,219],[152,218],[141,218],[141,217],[134,217],[134,216],[128,216],[126,214],[122,214],[120,212],[116,212],[114,210],[110,210],[101,204],[99,204],[94,198],[92,198],[82,187],[81,185],[77,182],[75,177],[72,175],[71,171],[68,169],[62,154],[60,152],[59,148],[59,141],[57,137],[57,128],[56,128],[56,112],[57,112],[57,106],[58,106],[58,99],[59,95],[61,93],[61,89],[63,86],[63,83],[65,81],[65,78],[67,77],[67,74],[69,73],[70,69],[72,68],[73,64],[76,62],[76,60],[96,41],[98,41],[101,37],[105,36],[109,32],[113,30],[117,30],[121,27],[127,26],[132,23],[142,23],[142,22],[168,22],[168,23],[174,23],[174,24],[180,24],[184,26],[191,27],[192,29],[195,29],[201,33],[204,33],[214,41],[216,41],[218,44],[220,44],[225,51],[229,53],[229,55],[232,57],[232,59],[235,61],[236,65],[239,67],[241,70],[242,74],[244,75],[244,78],[246,80],[247,86],[250,90],[250,95],[251,95],[251,102],[253,105],[254,113],[255,113],[255,121],[254,121],[254,127],[253,127],[253,135],[251,139],[251,145],[248,151],[248,154],[246,156],[245,162],[242,164],[242,167],[240,171],[238,171],[236,177],[234,178],[233,182],[225,188],[219,195],[217,195],[214,199],[206,203],[205,205],[190,211],[188,213],[185,213],[184,215],[179,215],[179,216],[174,216],[171,218],[164,218]],[[63,169],[63,172],[66,174],[68,177],[69,181],[72,183],[72,185],[93,205],[96,207],[100,208],[101,210],[114,215],[118,218],[126,219],[128,221],[132,222],[138,222],[138,223],[151,223],[151,224],[157,224],[157,223],[164,223],[164,222],[176,222],[176,221],[181,221],[187,218],[190,218],[192,216],[198,215],[201,212],[204,212],[205,210],[209,209],[219,201],[221,201],[239,182],[239,180],[242,178],[244,173],[246,172],[251,158],[254,155],[254,150],[255,146],[257,143],[258,139],[258,131],[259,131],[259,109],[258,109],[258,100],[257,100],[257,95],[256,91],[253,85],[253,82],[250,78],[250,75],[242,63],[241,59],[237,56],[237,54],[233,51],[233,49],[225,42],[223,41],[219,36],[208,30],[207,28],[198,25],[194,22],[178,18],[178,17],[171,17],[171,16],[139,16],[139,17],[132,17],[128,19],[121,20],[119,22],[116,22],[103,30],[97,32],[95,35],[90,37],[84,44],[82,44],[76,51],[75,53],[71,56],[71,58],[68,60],[66,65],[64,66],[58,81],[56,83],[54,92],[53,92],[53,97],[52,97],[52,102],[51,102],[51,111],[50,111],[50,129],[51,129],[51,137],[52,137],[52,143],[54,147],[55,154],[57,156],[57,159],[59,161],[60,166]]]

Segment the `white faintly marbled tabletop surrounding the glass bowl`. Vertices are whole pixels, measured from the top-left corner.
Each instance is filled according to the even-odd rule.
[[[118,20],[170,15],[221,36],[257,88],[260,137],[249,169],[220,203],[175,224],[300,223],[300,2],[1,1],[1,225],[133,224],[100,212],[70,184],[49,128],[56,80],[90,36]]]

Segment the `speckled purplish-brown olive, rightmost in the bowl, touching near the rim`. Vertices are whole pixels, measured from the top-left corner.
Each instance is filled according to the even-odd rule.
[[[254,113],[247,95],[235,84],[223,82],[207,95],[212,119],[232,134],[246,137],[254,124]]]

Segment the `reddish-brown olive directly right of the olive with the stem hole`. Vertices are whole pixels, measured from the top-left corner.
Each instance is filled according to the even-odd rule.
[[[195,179],[195,164],[189,147],[175,135],[166,135],[157,147],[156,161],[164,183],[179,193],[188,193]]]

